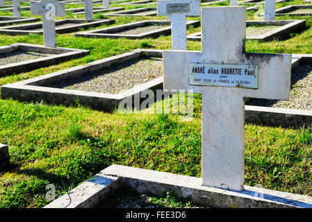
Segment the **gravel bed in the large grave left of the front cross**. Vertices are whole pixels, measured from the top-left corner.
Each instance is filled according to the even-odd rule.
[[[81,78],[46,86],[86,92],[118,94],[123,90],[131,89],[136,85],[146,83],[162,75],[162,58],[138,58],[126,64],[115,65],[96,73],[85,74]]]

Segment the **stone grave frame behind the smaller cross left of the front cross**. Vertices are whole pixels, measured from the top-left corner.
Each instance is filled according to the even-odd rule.
[[[138,28],[145,26],[145,24],[162,24],[168,25],[168,27],[160,28],[155,31],[149,31],[147,33],[141,33],[138,35],[125,35],[125,34],[114,34],[116,31],[126,31],[131,28]],[[186,26],[199,26],[199,21],[187,21]],[[76,33],[76,37],[108,37],[108,38],[120,38],[125,37],[131,40],[139,40],[146,37],[159,37],[161,35],[170,35],[171,34],[171,22],[163,20],[144,20],[141,22],[133,22],[129,24],[123,24],[120,26],[112,26],[108,28],[96,29],[93,31],[87,31],[83,33]],[[105,33],[104,33],[105,32]]]

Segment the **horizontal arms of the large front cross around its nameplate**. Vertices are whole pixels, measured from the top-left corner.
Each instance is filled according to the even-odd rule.
[[[200,51],[164,51],[164,89],[192,89],[194,93],[202,94],[207,86],[189,83],[190,62],[227,63],[206,60],[205,57]],[[243,53],[237,60],[236,64],[240,65],[258,65],[258,89],[230,87],[231,92],[238,92],[243,97],[259,99],[289,99],[290,54]]]

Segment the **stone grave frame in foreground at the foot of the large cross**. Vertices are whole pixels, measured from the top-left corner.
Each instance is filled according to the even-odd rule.
[[[130,188],[138,194],[190,198],[195,205],[217,208],[311,208],[311,196],[244,186],[244,191],[228,191],[201,184],[201,178],[110,165],[44,208],[92,208],[118,189]]]

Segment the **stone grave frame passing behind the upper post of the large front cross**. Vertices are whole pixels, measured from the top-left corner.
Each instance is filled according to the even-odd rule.
[[[258,41],[272,41],[276,38],[284,39],[289,33],[296,33],[306,28],[306,20],[275,20],[275,21],[247,21],[247,26],[251,24],[258,24],[261,26],[281,26],[275,28],[268,33],[258,35],[254,37],[246,37],[247,40],[258,40]],[[188,35],[188,40],[200,41],[202,40],[201,32],[192,33]]]

